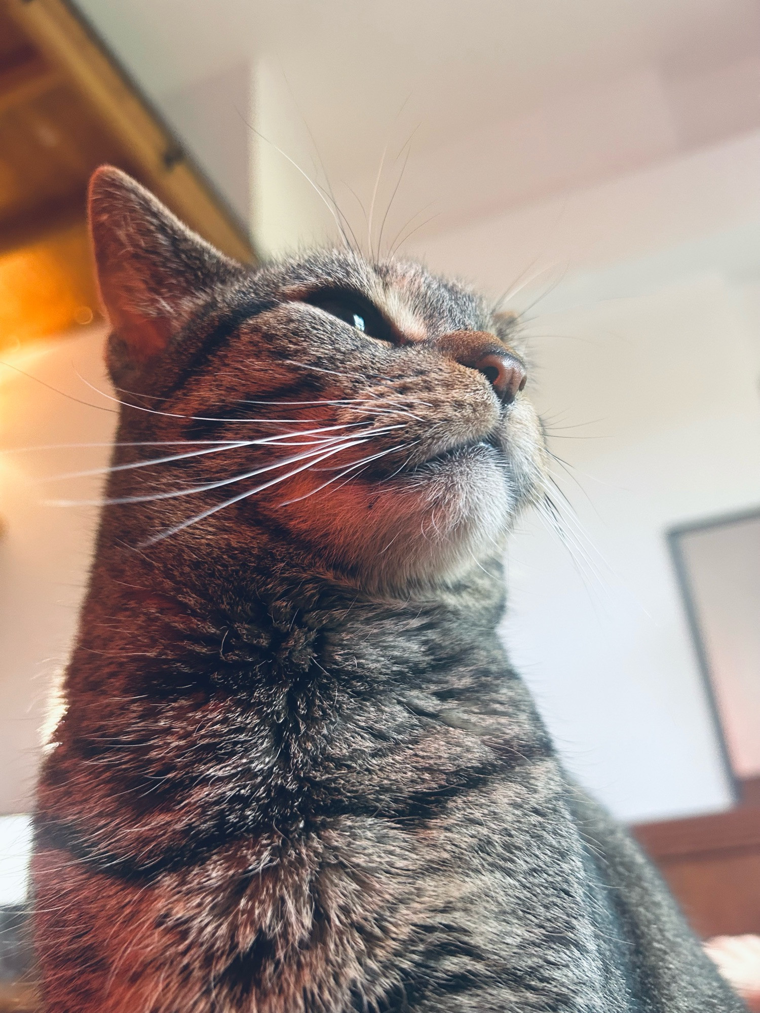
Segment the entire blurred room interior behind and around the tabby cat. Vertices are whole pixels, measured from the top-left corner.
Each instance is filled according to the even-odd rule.
[[[562,520],[512,541],[511,654],[697,930],[760,930],[757,3],[0,2],[6,905],[96,518],[52,478],[115,422],[102,161],[250,262],[340,219],[523,313]]]

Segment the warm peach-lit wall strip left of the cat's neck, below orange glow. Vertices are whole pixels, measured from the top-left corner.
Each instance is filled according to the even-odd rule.
[[[90,498],[100,479],[46,480],[106,462],[113,405],[85,382],[109,390],[103,333],[93,326],[2,356],[28,376],[0,366],[0,814],[29,808],[50,687],[86,581],[96,511],[46,500]],[[22,449],[61,444],[75,446]]]

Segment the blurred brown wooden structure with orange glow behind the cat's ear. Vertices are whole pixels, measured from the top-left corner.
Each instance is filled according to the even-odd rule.
[[[257,262],[244,223],[66,0],[0,0],[0,346],[97,313],[84,197],[103,162]]]

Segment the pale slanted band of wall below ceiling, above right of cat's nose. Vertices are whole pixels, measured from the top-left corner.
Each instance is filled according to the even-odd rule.
[[[524,287],[508,305],[540,298],[532,316],[637,294],[642,282],[657,291],[710,270],[758,277],[759,175],[760,131],[412,239],[404,252],[495,297]]]

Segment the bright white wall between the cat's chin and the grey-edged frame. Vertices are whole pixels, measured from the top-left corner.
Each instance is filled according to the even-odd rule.
[[[553,336],[533,343],[579,521],[571,551],[535,517],[521,526],[507,643],[571,768],[629,820],[730,802],[665,533],[760,504],[760,341],[742,296],[695,277],[547,315]]]

